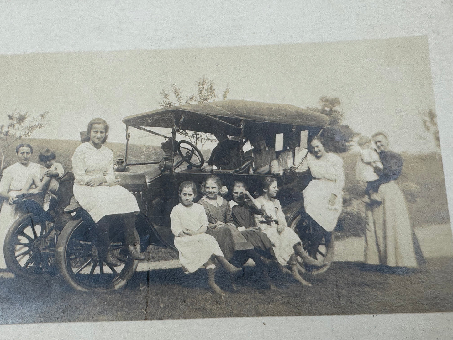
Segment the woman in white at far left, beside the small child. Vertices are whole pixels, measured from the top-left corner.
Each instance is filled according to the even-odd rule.
[[[16,146],[17,162],[3,170],[0,181],[0,199],[3,204],[0,210],[0,269],[6,268],[3,256],[3,243],[6,233],[17,216],[15,197],[20,194],[30,175],[39,175],[42,165],[30,162],[33,148],[29,144]]]

